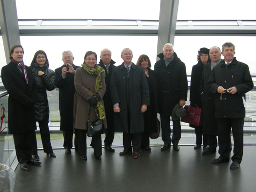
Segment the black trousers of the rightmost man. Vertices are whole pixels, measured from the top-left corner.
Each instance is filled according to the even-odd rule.
[[[232,161],[241,163],[243,157],[243,125],[244,118],[217,118],[219,154],[222,158],[229,159],[232,147],[231,128],[234,138],[234,155]]]

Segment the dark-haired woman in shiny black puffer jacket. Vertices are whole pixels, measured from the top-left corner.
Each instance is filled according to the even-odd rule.
[[[43,50],[39,50],[35,53],[35,56],[30,64],[32,73],[36,79],[38,92],[35,102],[36,120],[38,121],[40,134],[43,143],[43,151],[49,154],[51,157],[56,157],[52,150],[50,131],[49,131],[49,105],[47,99],[46,89],[52,91],[55,89],[54,85],[54,71],[49,69],[49,62],[46,53]],[[34,145],[33,159],[39,161],[37,154],[37,142]]]

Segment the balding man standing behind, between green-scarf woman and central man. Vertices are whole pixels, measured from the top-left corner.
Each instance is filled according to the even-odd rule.
[[[107,130],[106,130],[106,137],[104,140],[105,149],[110,152],[114,152],[115,149],[112,148],[112,143],[114,140],[115,130],[114,130],[114,111],[113,111],[113,104],[110,98],[110,79],[113,69],[116,67],[115,62],[111,59],[111,51],[109,49],[103,49],[101,51],[101,60],[99,66],[103,67],[105,70],[105,83],[107,91],[103,97],[104,100],[104,107],[107,119]]]

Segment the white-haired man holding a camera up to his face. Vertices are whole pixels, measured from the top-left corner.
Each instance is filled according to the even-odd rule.
[[[62,53],[64,65],[55,69],[55,85],[60,89],[59,106],[61,115],[61,130],[63,131],[65,153],[70,154],[73,147],[73,108],[74,108],[74,76],[76,69],[80,66],[73,64],[74,57],[71,51]],[[76,148],[76,131],[75,131],[75,148]]]

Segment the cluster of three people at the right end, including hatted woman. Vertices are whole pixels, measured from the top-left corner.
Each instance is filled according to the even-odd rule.
[[[229,162],[232,129],[234,155],[230,169],[239,168],[242,161],[245,93],[254,86],[248,65],[238,62],[234,55],[235,45],[230,42],[224,43],[222,50],[217,46],[200,48],[198,63],[192,67],[190,90],[191,106],[203,108],[203,125],[190,125],[195,128],[194,149],[203,143],[202,154],[208,155],[216,152],[219,144],[220,156],[212,163]]]

